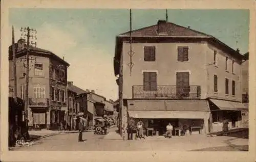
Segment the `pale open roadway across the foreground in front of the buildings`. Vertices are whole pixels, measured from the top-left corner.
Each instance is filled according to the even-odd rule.
[[[86,132],[84,142],[78,142],[78,133],[58,134],[38,141],[36,145],[20,147],[25,151],[239,151],[241,147],[230,146],[227,141],[234,137],[206,137],[194,134],[172,139],[146,138],[133,141],[106,140],[104,135]],[[246,139],[240,142],[248,145]]]

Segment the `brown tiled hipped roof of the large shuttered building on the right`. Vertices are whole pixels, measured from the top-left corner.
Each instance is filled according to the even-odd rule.
[[[212,37],[210,35],[185,28],[172,22],[164,22],[161,29],[166,31],[166,35],[158,34],[158,24],[132,31],[132,36],[169,36],[169,37]],[[130,32],[119,34],[118,36],[130,36]]]

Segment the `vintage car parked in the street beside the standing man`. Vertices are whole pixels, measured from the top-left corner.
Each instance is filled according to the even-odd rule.
[[[107,134],[109,122],[101,117],[95,118],[94,134]]]

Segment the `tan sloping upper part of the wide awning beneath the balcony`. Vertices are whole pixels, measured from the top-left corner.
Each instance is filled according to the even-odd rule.
[[[208,112],[206,100],[127,100],[128,111]]]

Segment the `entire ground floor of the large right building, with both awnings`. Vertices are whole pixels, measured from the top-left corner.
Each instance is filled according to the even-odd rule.
[[[209,133],[222,131],[224,119],[229,120],[229,128],[241,127],[245,109],[241,102],[219,99],[124,100],[120,122],[126,128],[131,117],[136,123],[141,120],[146,133],[150,130],[157,135],[166,131],[168,123],[177,131],[186,128],[191,133]]]

